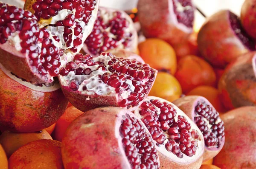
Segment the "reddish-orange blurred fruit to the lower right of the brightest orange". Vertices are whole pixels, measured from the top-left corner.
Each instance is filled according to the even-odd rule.
[[[214,86],[216,83],[212,66],[193,55],[184,56],[179,60],[175,77],[180,82],[183,93],[201,85]]]

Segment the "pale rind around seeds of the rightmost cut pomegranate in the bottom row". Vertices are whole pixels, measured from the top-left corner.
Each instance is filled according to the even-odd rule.
[[[213,107],[212,104],[202,96],[185,96],[183,98],[177,99],[173,102],[177,107],[180,108],[193,122],[195,118],[195,107],[198,104],[198,101],[205,101],[206,104]],[[219,148],[217,147],[207,147],[204,148],[204,159],[203,162],[208,161],[214,158],[222,149],[225,142],[225,136],[221,141]]]

